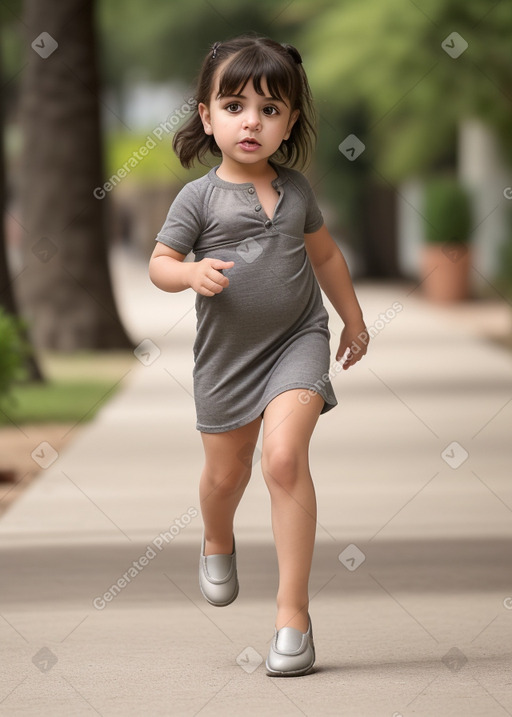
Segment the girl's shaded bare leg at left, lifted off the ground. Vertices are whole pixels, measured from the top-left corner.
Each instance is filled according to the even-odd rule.
[[[251,477],[261,418],[225,433],[201,433],[205,465],[199,484],[205,555],[233,551],[233,518]]]

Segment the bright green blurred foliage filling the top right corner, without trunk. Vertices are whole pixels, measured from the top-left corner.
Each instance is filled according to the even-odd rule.
[[[304,43],[318,95],[334,112],[364,106],[367,156],[397,181],[453,162],[467,116],[494,127],[512,158],[511,36],[508,3],[347,0],[322,3]]]

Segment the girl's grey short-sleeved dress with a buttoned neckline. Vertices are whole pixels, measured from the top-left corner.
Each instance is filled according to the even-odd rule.
[[[234,261],[229,286],[197,295],[194,342],[196,428],[221,433],[250,423],[290,389],[334,408],[328,316],[309,262],[304,234],[323,219],[307,179],[272,164],[279,194],[265,215],[251,183],[217,176],[217,167],[190,182],[169,209],[157,241],[182,254]]]

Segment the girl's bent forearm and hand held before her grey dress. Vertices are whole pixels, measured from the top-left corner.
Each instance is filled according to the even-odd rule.
[[[184,262],[186,254],[157,242],[149,261],[149,278],[162,291],[192,288],[203,296],[214,296],[229,286],[229,279],[218,271],[231,269],[233,261],[205,258]]]

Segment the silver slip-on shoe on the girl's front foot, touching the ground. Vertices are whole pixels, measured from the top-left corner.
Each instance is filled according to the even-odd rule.
[[[272,677],[299,677],[305,675],[315,664],[313,627],[309,617],[307,632],[294,627],[275,630],[270,644],[266,668]]]

